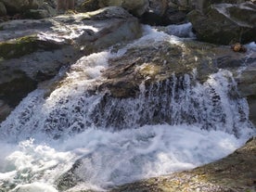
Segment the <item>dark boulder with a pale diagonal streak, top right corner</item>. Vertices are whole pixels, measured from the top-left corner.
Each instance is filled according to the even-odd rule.
[[[221,45],[256,41],[256,5],[211,5],[206,13],[193,10],[188,14],[198,40]]]

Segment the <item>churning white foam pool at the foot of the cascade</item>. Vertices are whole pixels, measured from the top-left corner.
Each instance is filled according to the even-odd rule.
[[[88,129],[47,146],[27,140],[6,160],[2,157],[8,167],[1,168],[0,186],[18,185],[10,191],[52,192],[58,177],[80,160],[73,172],[83,181],[80,189],[103,190],[220,159],[245,139],[197,126],[163,124],[116,133]]]

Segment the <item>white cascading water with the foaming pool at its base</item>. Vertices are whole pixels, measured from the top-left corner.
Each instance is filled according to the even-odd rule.
[[[175,42],[149,32],[128,47],[166,38]],[[106,190],[220,159],[255,134],[228,70],[141,83],[135,98],[92,91],[125,51],[79,59],[49,96],[38,88],[1,123],[0,191]]]

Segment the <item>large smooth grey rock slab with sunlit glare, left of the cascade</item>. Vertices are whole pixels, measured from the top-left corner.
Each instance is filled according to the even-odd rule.
[[[1,23],[0,29],[0,110],[6,111],[0,120],[61,67],[141,34],[138,20],[122,7],[54,19],[12,20]]]

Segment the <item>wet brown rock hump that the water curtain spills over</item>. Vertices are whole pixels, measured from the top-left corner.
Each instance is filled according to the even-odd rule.
[[[194,41],[184,41],[181,44],[170,44],[168,40],[152,44],[148,42],[147,45],[128,49],[120,58],[109,60],[110,68],[104,71],[107,81],[100,86],[100,90],[109,89],[112,96],[117,97],[136,96],[139,84],[143,81],[150,84],[169,79],[173,73],[179,77],[192,73],[195,69],[198,80],[204,82],[212,72],[230,67],[222,63],[236,60],[239,64],[237,67],[241,66],[245,55],[236,56],[229,47]],[[124,87],[129,91],[123,91]]]

